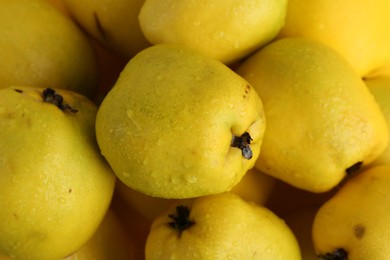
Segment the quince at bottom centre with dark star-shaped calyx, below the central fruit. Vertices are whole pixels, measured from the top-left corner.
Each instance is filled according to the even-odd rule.
[[[272,211],[222,193],[178,202],[152,224],[145,259],[301,259],[294,234]]]

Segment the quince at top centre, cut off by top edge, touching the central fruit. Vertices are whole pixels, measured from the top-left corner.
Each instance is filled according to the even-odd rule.
[[[153,44],[179,44],[232,63],[271,41],[286,11],[287,0],[146,0],[139,21]]]

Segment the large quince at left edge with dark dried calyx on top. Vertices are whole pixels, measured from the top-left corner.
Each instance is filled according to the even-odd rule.
[[[0,254],[59,259],[96,231],[115,184],[96,112],[70,91],[0,89]]]

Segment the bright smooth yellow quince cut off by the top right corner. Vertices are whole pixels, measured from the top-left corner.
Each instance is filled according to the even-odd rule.
[[[390,62],[389,13],[388,0],[289,0],[279,37],[325,43],[366,76]]]

